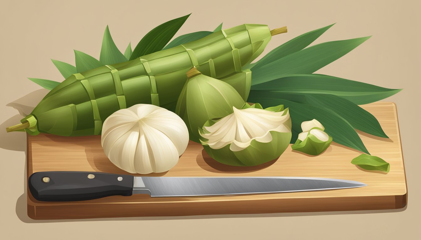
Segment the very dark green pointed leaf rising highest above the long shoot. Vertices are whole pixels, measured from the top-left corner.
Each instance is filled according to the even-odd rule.
[[[136,45],[130,60],[162,50],[171,38],[174,37],[180,27],[183,26],[189,16],[190,14],[173,19],[152,29]]]

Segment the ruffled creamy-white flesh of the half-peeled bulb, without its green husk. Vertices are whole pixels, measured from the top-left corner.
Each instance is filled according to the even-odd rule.
[[[285,125],[290,118],[287,110],[272,112],[259,108],[237,109],[210,127],[204,127],[209,133],[200,134],[208,139],[210,148],[220,149],[229,145],[231,151],[247,148],[252,140],[258,142],[272,141],[271,131],[291,132]],[[282,116],[285,111],[287,113]]]

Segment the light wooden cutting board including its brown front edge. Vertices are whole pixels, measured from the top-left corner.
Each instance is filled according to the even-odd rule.
[[[369,172],[350,163],[361,153],[333,143],[320,156],[307,156],[290,147],[279,159],[260,166],[234,167],[214,161],[202,145],[190,142],[170,171],[144,176],[300,176],[347,179],[367,187],[260,195],[151,198],[149,195],[111,196],[75,202],[40,202],[28,192],[32,219],[82,219],[133,216],[186,216],[278,212],[348,211],[403,208],[407,202],[405,169],[394,103],[362,105],[372,113],[390,139],[358,132],[370,153],[390,164],[390,172]],[[37,171],[99,171],[128,174],[104,155],[100,136],[29,136],[27,176]],[[141,176],[141,175],[138,175]]]

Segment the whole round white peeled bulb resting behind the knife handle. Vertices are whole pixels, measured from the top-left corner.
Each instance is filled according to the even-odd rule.
[[[188,142],[184,121],[177,114],[150,104],[120,109],[102,126],[105,155],[130,173],[168,171],[177,164]]]

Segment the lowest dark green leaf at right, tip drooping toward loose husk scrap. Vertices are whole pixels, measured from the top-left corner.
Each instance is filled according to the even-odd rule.
[[[250,91],[248,101],[260,103],[264,108],[280,104],[283,104],[285,108],[288,107],[293,128],[291,143],[297,140],[298,132],[301,132],[301,122],[317,119],[325,127],[325,132],[332,136],[334,142],[370,154],[352,125],[328,108],[296,103],[278,98],[267,91],[256,90]]]

